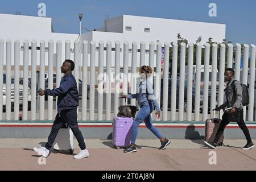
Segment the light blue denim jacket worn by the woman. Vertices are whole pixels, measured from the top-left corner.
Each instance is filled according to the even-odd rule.
[[[148,93],[147,93],[148,92]],[[160,107],[156,102],[156,98],[154,95],[153,86],[150,81],[142,81],[137,86],[136,94],[128,94],[127,98],[136,98],[139,106],[148,105],[148,103],[152,103],[157,111],[160,111]]]

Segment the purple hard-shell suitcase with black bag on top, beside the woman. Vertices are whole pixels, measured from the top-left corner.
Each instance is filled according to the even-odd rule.
[[[133,118],[114,117],[112,143],[115,148],[127,147],[131,143]]]

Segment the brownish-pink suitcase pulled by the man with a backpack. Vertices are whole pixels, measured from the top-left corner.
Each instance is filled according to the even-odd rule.
[[[213,142],[217,131],[218,127],[220,127],[221,119],[218,118],[213,118],[213,119],[207,119],[205,121],[205,141],[207,142]],[[218,140],[218,144],[222,146],[224,140],[224,134],[221,135],[220,139]]]

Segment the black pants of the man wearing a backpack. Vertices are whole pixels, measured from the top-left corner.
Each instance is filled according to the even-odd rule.
[[[247,142],[251,142],[249,130],[248,130],[247,126],[245,125],[245,121],[243,121],[243,110],[240,110],[238,112],[239,113],[237,113],[237,115],[238,115],[239,119],[237,119],[237,124],[240,127],[240,129],[243,131],[243,134],[245,134]],[[218,142],[222,133],[224,132],[226,125],[228,125],[229,122],[230,122],[229,114],[225,112],[222,115],[222,122],[220,123],[220,127],[218,128],[216,137],[214,139],[214,143]]]

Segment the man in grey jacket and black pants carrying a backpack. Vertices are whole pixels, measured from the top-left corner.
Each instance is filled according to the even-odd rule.
[[[254,147],[254,144],[251,141],[250,133],[247,126],[245,125],[245,121],[243,121],[242,86],[237,80],[234,80],[233,76],[234,70],[232,68],[226,68],[225,81],[228,81],[225,89],[226,102],[216,107],[215,110],[224,110],[226,107],[231,107],[231,109],[229,111],[225,111],[225,113],[222,115],[222,122],[220,123],[220,127],[218,128],[216,137],[213,142],[205,141],[204,143],[215,149],[226,125],[228,125],[230,121],[236,121],[240,129],[243,131],[243,134],[245,134],[247,140],[247,144],[242,147],[242,149],[249,150]]]

